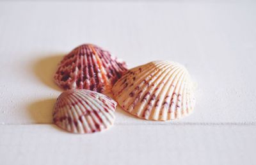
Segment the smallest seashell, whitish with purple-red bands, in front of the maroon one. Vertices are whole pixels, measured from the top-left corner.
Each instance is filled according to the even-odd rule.
[[[53,121],[72,133],[100,132],[113,125],[116,102],[90,90],[67,90],[54,106]]]

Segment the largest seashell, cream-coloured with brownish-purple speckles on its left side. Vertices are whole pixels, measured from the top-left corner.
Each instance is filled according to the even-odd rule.
[[[147,120],[173,120],[195,106],[193,83],[186,68],[170,61],[153,61],[132,68],[112,88],[125,110]]]

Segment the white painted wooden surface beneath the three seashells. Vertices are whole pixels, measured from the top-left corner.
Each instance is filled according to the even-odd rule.
[[[1,1],[0,164],[256,164],[256,2]],[[195,112],[172,122],[118,108],[115,126],[74,135],[52,125],[62,56],[95,43],[129,68],[185,65]]]

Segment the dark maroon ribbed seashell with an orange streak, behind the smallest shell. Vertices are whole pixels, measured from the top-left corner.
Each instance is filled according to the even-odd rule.
[[[92,44],[76,47],[61,61],[54,80],[67,89],[109,93],[113,84],[127,71],[124,62]]]

